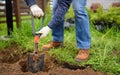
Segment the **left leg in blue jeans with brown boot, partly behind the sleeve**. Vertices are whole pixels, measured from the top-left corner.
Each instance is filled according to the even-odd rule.
[[[54,13],[58,7],[58,0],[53,0],[53,9],[52,14],[54,16]],[[44,45],[42,47],[43,50],[49,50],[52,47],[59,47],[63,46],[64,41],[64,20],[59,23],[60,25],[57,25],[52,29],[52,42],[50,42],[47,45]]]

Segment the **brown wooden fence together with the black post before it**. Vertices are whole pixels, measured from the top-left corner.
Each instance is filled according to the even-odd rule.
[[[36,3],[43,9],[47,6],[48,0],[36,0]],[[21,16],[30,15],[29,7],[24,0],[2,0],[0,1],[0,24],[7,23],[8,35],[13,31],[13,22],[16,22],[17,28],[20,27],[22,20]],[[13,16],[15,18],[13,18]]]

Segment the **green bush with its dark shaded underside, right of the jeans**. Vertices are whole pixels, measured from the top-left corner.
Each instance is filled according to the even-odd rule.
[[[120,7],[110,7],[106,12],[99,7],[96,13],[88,9],[88,13],[91,23],[101,25],[104,32],[113,26],[117,26],[116,30],[120,29]]]

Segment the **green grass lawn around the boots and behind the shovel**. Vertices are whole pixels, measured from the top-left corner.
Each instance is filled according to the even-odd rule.
[[[51,15],[46,15],[45,25],[49,22]],[[37,31],[41,21],[35,20],[35,30]],[[7,35],[7,27],[5,24],[0,25],[0,36]],[[15,43],[24,48],[24,52],[33,51],[33,35],[31,29],[31,21],[23,21],[21,28],[17,29],[14,25],[14,32],[8,41],[0,40],[0,49],[10,47]],[[49,53],[56,57],[59,62],[67,62],[75,65],[84,66],[92,65],[97,71],[107,72],[109,75],[119,75],[120,73],[120,30],[112,27],[106,33],[97,31],[91,23],[92,44],[90,50],[90,58],[87,62],[78,63],[74,61],[78,49],[76,48],[75,27],[65,30],[64,47],[52,49]],[[51,41],[51,33],[39,42],[39,50],[44,44]],[[114,53],[113,51],[117,52]]]

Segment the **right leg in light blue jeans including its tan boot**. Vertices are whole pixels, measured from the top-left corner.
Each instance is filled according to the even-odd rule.
[[[76,41],[79,48],[77,61],[84,61],[89,56],[91,43],[89,18],[86,12],[86,0],[73,0],[72,6],[75,13]]]

